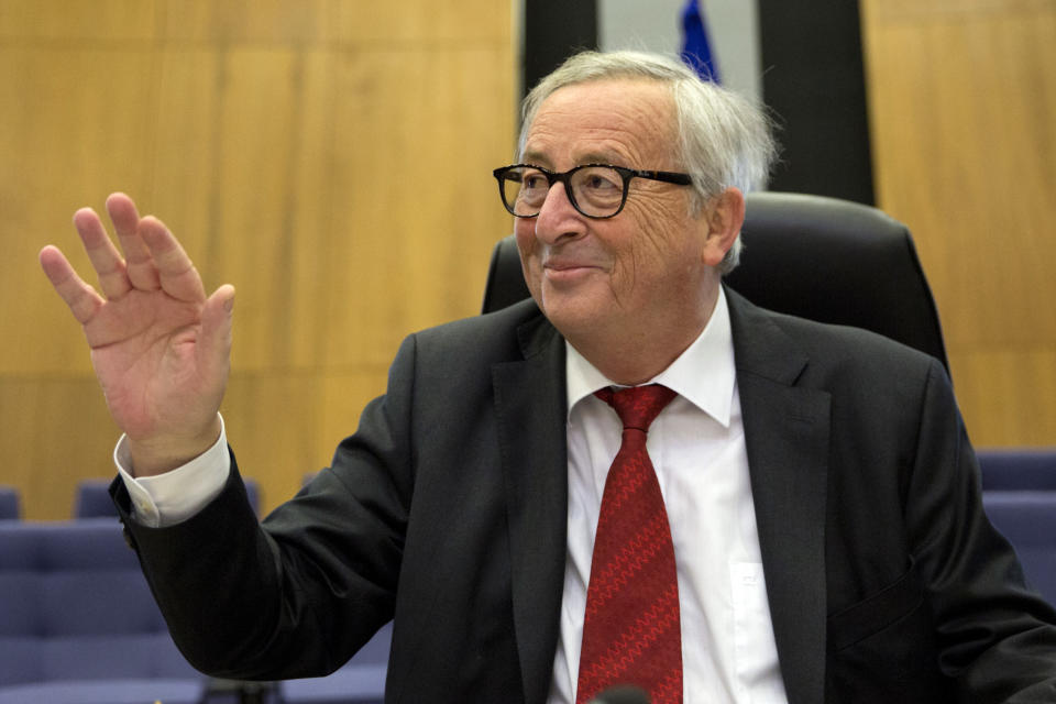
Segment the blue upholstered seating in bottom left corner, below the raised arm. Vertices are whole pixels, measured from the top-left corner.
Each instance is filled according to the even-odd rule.
[[[121,526],[0,522],[0,704],[197,704]]]

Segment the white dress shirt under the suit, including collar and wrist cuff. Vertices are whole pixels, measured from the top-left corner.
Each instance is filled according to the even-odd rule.
[[[593,396],[612,385],[566,345],[569,544],[549,703],[575,701],[583,614],[605,477],[622,425]],[[748,480],[725,295],[697,340],[654,383],[678,392],[649,429],[679,571],[684,704],[784,703]],[[170,526],[200,510],[230,472],[227,437],[188,464],[135,479],[122,437],[114,462],[135,519]]]

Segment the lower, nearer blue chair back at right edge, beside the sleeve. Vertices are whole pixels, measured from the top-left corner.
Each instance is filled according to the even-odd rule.
[[[1056,492],[983,492],[982,505],[1015,548],[1027,582],[1056,604]]]

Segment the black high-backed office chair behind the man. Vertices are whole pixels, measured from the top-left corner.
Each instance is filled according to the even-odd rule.
[[[935,299],[903,223],[846,200],[754,193],[741,238],[740,266],[726,283],[752,302],[879,332],[949,369]],[[510,235],[492,252],[483,311],[528,296]]]

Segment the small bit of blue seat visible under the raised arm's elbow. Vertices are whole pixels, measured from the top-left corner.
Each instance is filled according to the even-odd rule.
[[[280,700],[284,704],[382,704],[392,639],[389,623],[332,674],[280,682]]]

